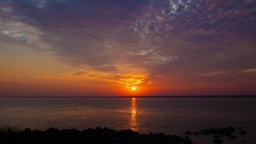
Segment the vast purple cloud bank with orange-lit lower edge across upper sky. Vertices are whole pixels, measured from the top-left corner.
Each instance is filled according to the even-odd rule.
[[[64,74],[68,79],[130,85],[176,71],[215,76],[255,65],[255,6],[237,0],[6,0],[0,44],[45,52],[80,70]],[[127,80],[123,67],[144,72]],[[205,67],[215,72],[201,74]]]

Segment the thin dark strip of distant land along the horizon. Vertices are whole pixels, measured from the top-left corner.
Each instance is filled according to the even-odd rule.
[[[187,95],[187,96],[39,96],[39,97],[0,97],[0,98],[256,98],[256,95]]]

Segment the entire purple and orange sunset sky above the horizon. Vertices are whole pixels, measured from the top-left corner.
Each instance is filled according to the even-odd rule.
[[[126,95],[256,95],[256,1],[0,0],[1,97]]]

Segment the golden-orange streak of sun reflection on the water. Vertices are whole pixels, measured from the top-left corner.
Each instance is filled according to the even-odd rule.
[[[138,120],[137,120],[137,104],[136,98],[132,98],[131,101],[131,121],[130,121],[130,129],[133,131],[138,131]]]

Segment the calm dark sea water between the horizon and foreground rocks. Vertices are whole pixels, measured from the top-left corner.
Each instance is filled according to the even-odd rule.
[[[107,127],[185,137],[182,132],[242,127],[225,144],[256,143],[256,98],[0,98],[0,125],[46,130]],[[239,129],[237,129],[239,131]],[[213,135],[188,135],[212,144]]]

